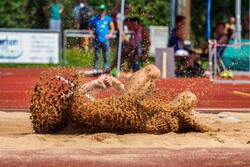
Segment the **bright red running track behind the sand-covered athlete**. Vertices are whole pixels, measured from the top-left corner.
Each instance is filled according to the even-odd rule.
[[[31,93],[43,70],[0,68],[0,110],[28,111]],[[167,100],[189,89],[199,99],[197,108],[240,108],[243,111],[250,108],[250,84],[214,84],[209,78],[169,78],[161,79],[157,88]],[[109,93],[111,91],[102,94]]]

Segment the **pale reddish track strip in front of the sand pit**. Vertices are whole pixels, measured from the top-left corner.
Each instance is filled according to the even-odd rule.
[[[0,150],[0,166],[250,166],[249,148],[89,148]]]

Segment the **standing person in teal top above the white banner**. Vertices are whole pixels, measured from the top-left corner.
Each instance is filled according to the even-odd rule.
[[[59,0],[52,0],[52,3],[44,7],[45,14],[49,14],[49,29],[52,31],[61,31],[63,5]]]

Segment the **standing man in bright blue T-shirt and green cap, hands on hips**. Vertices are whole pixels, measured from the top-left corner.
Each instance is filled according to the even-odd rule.
[[[102,49],[103,54],[103,72],[108,72],[109,69],[109,49],[111,38],[114,32],[114,23],[108,15],[106,15],[106,6],[100,5],[98,7],[98,15],[91,18],[89,22],[89,34],[94,40],[94,74],[98,73],[100,50]]]

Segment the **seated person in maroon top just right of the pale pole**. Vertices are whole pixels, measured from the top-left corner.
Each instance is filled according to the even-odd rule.
[[[128,70],[133,72],[141,68],[142,62],[149,57],[150,38],[149,32],[144,28],[140,19],[137,17],[125,19],[125,24],[131,31],[129,42],[124,42],[122,45],[121,64],[128,61]],[[117,65],[117,56],[114,59],[110,69],[112,70]]]

